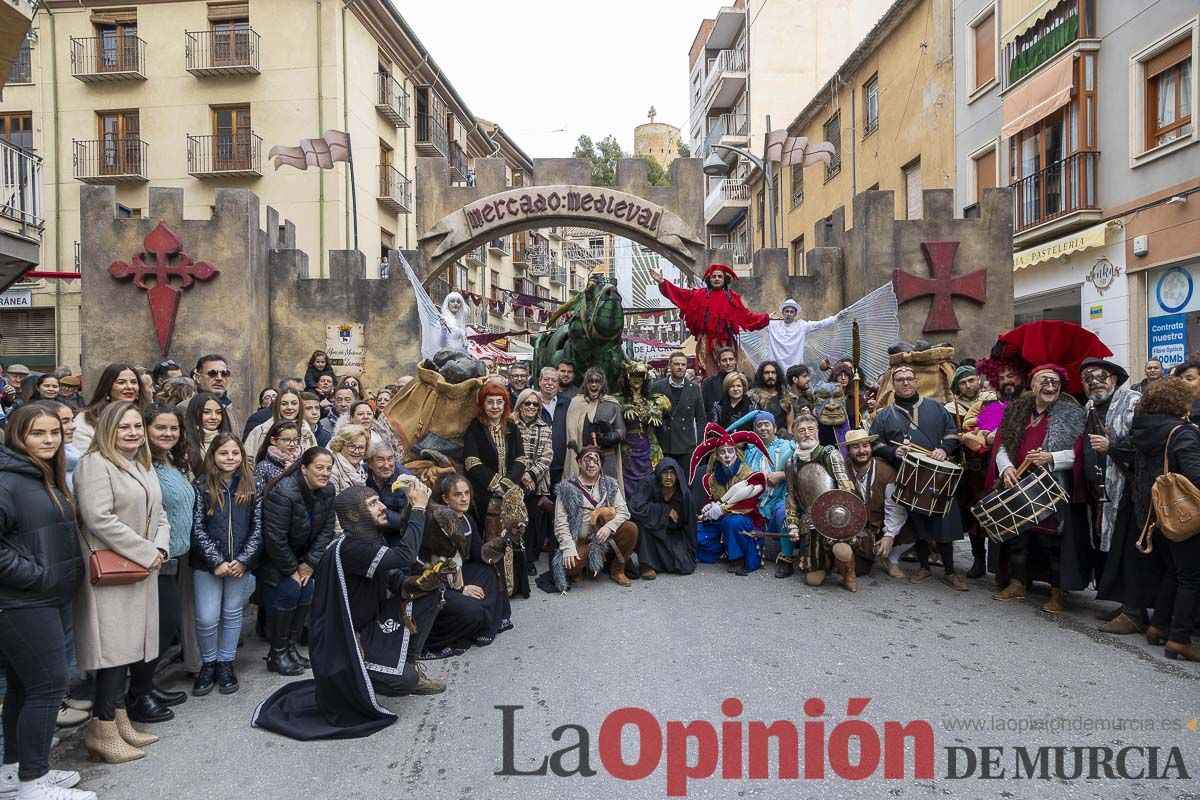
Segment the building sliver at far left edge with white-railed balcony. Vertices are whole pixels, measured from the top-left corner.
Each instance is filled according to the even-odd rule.
[[[0,97],[6,84],[19,84],[29,71],[29,0],[0,2]],[[29,330],[36,281],[22,276],[41,258],[42,160],[32,149],[24,120],[0,116],[0,360],[12,363]]]

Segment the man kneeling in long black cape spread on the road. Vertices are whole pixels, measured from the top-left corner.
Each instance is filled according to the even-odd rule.
[[[415,663],[440,606],[444,566],[409,576],[420,546],[430,489],[408,489],[408,525],[396,547],[384,539],[386,507],[365,486],[334,501],[342,536],[334,540],[313,581],[310,651],[312,680],[281,687],[254,710],[252,724],[292,739],[366,736],[396,721],[377,694],[436,694],[445,681]]]

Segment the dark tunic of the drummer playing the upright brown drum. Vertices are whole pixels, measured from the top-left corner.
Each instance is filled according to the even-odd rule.
[[[940,403],[920,396],[911,402],[896,398],[893,405],[881,409],[871,423],[871,434],[878,437],[875,455],[893,469],[900,469],[896,446],[905,441],[925,450],[941,449],[946,451],[947,459],[953,459],[959,450],[954,419]],[[944,517],[910,511],[908,521],[918,540],[953,542],[962,539],[962,517],[955,500],[950,501],[950,510]]]

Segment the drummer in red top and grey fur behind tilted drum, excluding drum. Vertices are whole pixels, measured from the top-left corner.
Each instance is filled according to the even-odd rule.
[[[1030,393],[1010,401],[996,432],[989,480],[996,488],[1015,486],[1024,463],[1051,471],[1072,497],[1074,488],[1075,443],[1084,433],[1085,413],[1070,395],[1062,391],[1067,371],[1043,363],[1030,372]],[[1008,541],[1013,575],[995,600],[1019,600],[1026,587],[1043,571],[1050,582],[1050,600],[1042,610],[1060,614],[1067,609],[1067,591],[1085,588],[1091,581],[1091,542],[1082,506],[1062,504],[1058,511]]]

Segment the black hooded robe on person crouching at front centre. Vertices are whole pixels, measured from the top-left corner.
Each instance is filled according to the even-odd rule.
[[[674,470],[676,492],[671,500],[662,498],[659,476]],[[671,522],[674,510],[678,519]],[[692,511],[686,473],[674,458],[664,458],[635,487],[629,499],[629,512],[637,519],[637,561],[655,572],[691,575],[696,571],[696,513]]]

